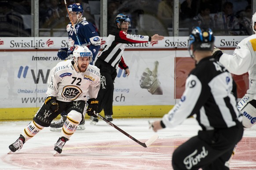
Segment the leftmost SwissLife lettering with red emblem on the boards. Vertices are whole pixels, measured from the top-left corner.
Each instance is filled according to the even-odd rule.
[[[30,41],[23,41],[23,40],[11,40],[10,47],[11,48],[42,48],[42,47],[51,47],[54,45],[54,42],[51,39],[48,39],[44,42],[42,39],[30,40]]]

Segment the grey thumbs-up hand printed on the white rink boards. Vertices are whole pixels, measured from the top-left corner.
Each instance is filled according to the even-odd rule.
[[[158,61],[155,61],[155,68],[153,71],[150,71],[149,68],[146,68],[139,80],[139,85],[142,89],[147,89],[151,94],[160,87],[160,81],[157,78],[157,68]]]

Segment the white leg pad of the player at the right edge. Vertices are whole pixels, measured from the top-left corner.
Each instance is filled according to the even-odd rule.
[[[243,126],[251,128],[256,122],[256,100],[245,100],[245,97],[238,103],[238,109],[243,114]]]

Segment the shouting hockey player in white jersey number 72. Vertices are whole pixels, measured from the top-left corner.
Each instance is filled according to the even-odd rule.
[[[60,138],[54,145],[55,154],[61,153],[66,141],[84,119],[85,113],[91,116],[94,111],[98,111],[99,102],[96,98],[100,87],[100,73],[98,67],[89,64],[92,53],[86,46],[76,46],[73,58],[59,62],[51,70],[47,98],[20,137],[9,146],[10,152],[22,149],[25,142],[44,127],[49,127],[51,121],[65,111],[68,113],[67,119]]]

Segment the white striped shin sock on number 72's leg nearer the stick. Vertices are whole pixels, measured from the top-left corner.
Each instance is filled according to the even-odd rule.
[[[70,138],[71,135],[77,130],[77,126],[82,120],[82,114],[77,112],[76,110],[71,110],[67,119],[62,127],[62,136],[66,138]]]

